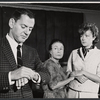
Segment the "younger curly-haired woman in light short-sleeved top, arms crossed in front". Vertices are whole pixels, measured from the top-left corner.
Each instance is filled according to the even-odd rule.
[[[100,83],[100,50],[97,49],[98,28],[86,23],[79,29],[82,47],[73,50],[67,72],[75,77],[69,84],[68,98],[98,98]]]

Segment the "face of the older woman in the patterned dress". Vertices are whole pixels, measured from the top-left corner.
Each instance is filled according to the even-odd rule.
[[[64,54],[64,46],[60,42],[55,42],[52,44],[52,49],[50,50],[51,57],[54,59],[61,59]]]

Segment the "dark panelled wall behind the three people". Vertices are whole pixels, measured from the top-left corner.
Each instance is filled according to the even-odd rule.
[[[0,7],[0,36],[3,37],[9,30],[8,21],[14,7]],[[25,42],[37,49],[41,60],[48,59],[48,45],[52,39],[61,39],[64,42],[66,62],[70,52],[80,47],[78,28],[83,23],[83,13],[32,10],[36,14],[35,27]]]

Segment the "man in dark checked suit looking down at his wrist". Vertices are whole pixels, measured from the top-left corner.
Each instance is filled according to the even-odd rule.
[[[34,15],[25,9],[16,10],[9,20],[9,32],[0,41],[0,98],[33,98],[33,83],[49,82],[50,75],[42,67],[37,51],[23,44],[34,24]]]

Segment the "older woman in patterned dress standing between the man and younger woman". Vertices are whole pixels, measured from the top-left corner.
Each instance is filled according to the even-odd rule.
[[[74,77],[67,79],[64,74],[59,60],[64,54],[64,45],[61,40],[55,39],[49,45],[50,58],[45,61],[46,67],[50,73],[50,82],[44,85],[44,98],[66,98],[66,84],[68,84]]]

